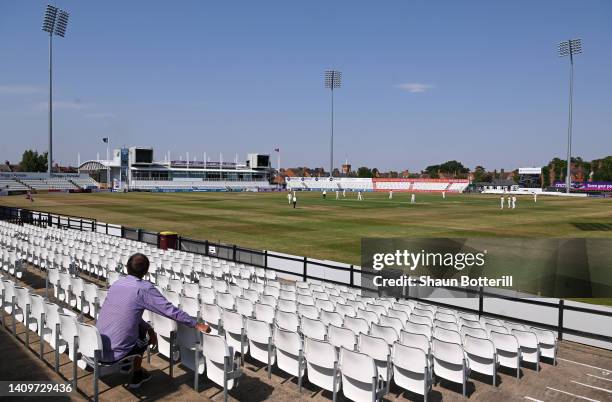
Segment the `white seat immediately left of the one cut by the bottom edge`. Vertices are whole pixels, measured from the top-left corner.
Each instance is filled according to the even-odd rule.
[[[308,381],[331,391],[332,400],[342,384],[338,369],[338,351],[329,342],[304,337],[304,358],[306,360]]]

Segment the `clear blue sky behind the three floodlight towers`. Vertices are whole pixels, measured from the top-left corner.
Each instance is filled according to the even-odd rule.
[[[47,148],[45,1],[0,0],[0,159]],[[55,156],[151,145],[158,159],[282,151],[336,165],[537,166],[564,157],[576,60],[574,155],[612,154],[612,2],[56,1]],[[276,158],[273,159],[276,161]],[[275,162],[276,163],[276,162]]]

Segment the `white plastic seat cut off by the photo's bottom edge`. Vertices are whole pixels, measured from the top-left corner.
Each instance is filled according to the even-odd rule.
[[[385,393],[374,359],[364,353],[340,349],[342,393],[357,402],[379,401]]]

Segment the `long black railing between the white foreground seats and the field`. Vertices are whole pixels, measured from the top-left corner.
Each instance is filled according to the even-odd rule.
[[[148,232],[143,229],[137,228],[129,228],[125,226],[113,225],[109,223],[101,223],[97,222],[95,219],[83,218],[79,216],[68,216],[68,215],[57,215],[48,212],[40,212],[40,211],[31,211],[28,209],[21,208],[13,208],[13,207],[5,207],[0,206],[0,220],[9,221],[16,224],[32,224],[37,226],[51,226],[51,227],[59,227],[59,228],[71,228],[78,229],[84,231],[94,231],[98,233],[104,233],[109,235],[115,235],[118,237],[123,237],[126,239],[136,240],[145,242],[147,244],[151,244],[154,246],[159,246],[160,234],[155,232]],[[354,265],[349,266],[340,266],[334,265],[331,263],[324,263],[321,261],[316,261],[313,259],[309,259],[307,257],[297,257],[297,256],[288,256],[284,254],[278,254],[270,251],[262,251],[256,249],[248,249],[243,248],[237,245],[224,244],[220,242],[212,242],[209,240],[196,240],[187,237],[178,237],[177,249],[182,251],[187,251],[191,253],[201,254],[209,257],[220,258],[228,261],[234,261],[239,263],[249,264],[258,268],[263,268],[266,270],[274,271],[277,273],[281,273],[284,275],[290,275],[293,278],[299,278],[300,280],[308,280],[315,279],[321,280],[329,283],[334,283],[337,285],[350,286],[352,288],[357,288],[365,292],[377,293],[378,289],[370,288],[363,286],[364,278],[367,278],[371,272],[362,271],[361,269],[356,269]],[[280,259],[286,261],[287,263],[299,263],[299,270],[287,270],[283,268],[279,268],[277,266],[271,266],[269,264],[269,260],[271,258]],[[297,266],[297,264],[296,264]],[[311,275],[309,273],[309,267],[316,268],[324,268],[331,269],[336,271],[343,271],[348,273],[348,281],[337,281],[328,278],[322,278],[320,276]],[[355,283],[355,275],[361,275],[361,283],[357,285]],[[457,305],[451,305],[448,303],[443,303],[439,301],[435,301],[432,299],[420,299],[417,297],[411,297],[409,293],[404,289],[402,297],[410,298],[415,300],[423,300],[427,303],[435,304],[441,307],[453,308],[473,314],[478,314],[478,316],[487,315],[490,317],[508,319],[511,321],[523,323],[526,325],[537,326],[540,328],[549,329],[557,332],[558,338],[563,339],[564,334],[581,336],[591,339],[596,339],[599,341],[611,342],[612,336],[591,333],[587,331],[582,331],[574,328],[567,328],[564,325],[564,314],[566,311],[576,311],[585,314],[592,314],[600,317],[612,317],[612,311],[603,311],[597,309],[590,309],[587,307],[581,306],[572,306],[567,305],[564,300],[559,300],[558,302],[549,302],[543,300],[537,300],[533,298],[520,298],[514,296],[507,296],[499,293],[493,293],[489,291],[485,291],[482,287],[478,289],[471,288],[460,288],[460,287],[452,287],[447,286],[444,289],[450,291],[459,291],[468,295],[472,295],[473,298],[478,298],[478,309],[462,307]],[[537,305],[541,307],[547,307],[556,310],[557,315],[557,324],[546,324],[541,322],[534,322],[524,318],[511,317],[506,315],[501,315],[497,313],[493,313],[490,311],[486,311],[485,300],[487,298],[495,298],[495,299],[503,299],[511,302],[518,302],[530,305]]]

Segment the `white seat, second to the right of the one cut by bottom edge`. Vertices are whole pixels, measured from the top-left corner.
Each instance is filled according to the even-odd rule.
[[[461,384],[463,396],[465,396],[470,369],[461,345],[446,342],[434,336],[432,339],[432,354],[435,375]]]

